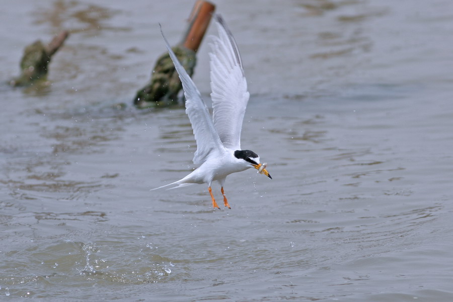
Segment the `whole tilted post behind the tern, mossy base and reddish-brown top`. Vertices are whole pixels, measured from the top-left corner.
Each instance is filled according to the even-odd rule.
[[[190,76],[192,76],[196,64],[195,53],[200,46],[214,9],[215,6],[209,2],[197,1],[182,42],[172,47]],[[158,58],[151,76],[149,83],[137,91],[134,105],[138,108],[146,108],[176,103],[182,85],[168,52]]]

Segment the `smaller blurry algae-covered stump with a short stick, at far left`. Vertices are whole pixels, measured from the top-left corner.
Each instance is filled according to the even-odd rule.
[[[28,45],[21,60],[21,75],[10,81],[12,86],[27,86],[37,80],[44,80],[53,54],[63,45],[68,37],[67,31],[61,31],[53,40],[44,45],[40,40]]]

